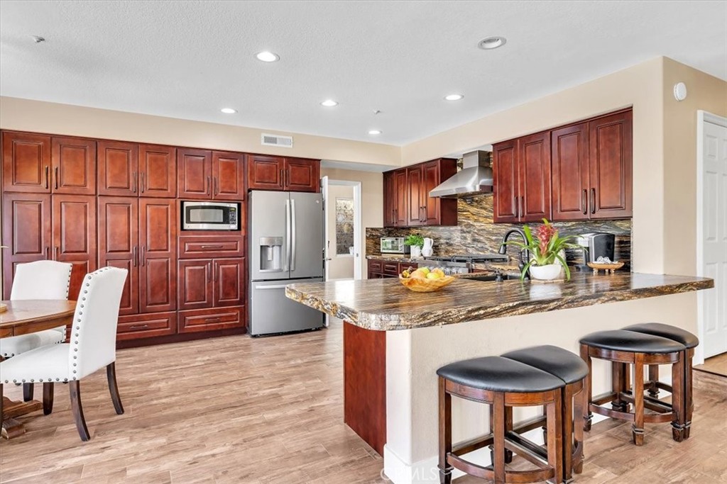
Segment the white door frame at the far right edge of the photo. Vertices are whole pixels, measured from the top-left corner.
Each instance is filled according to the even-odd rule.
[[[704,277],[704,123],[727,127],[727,118],[704,110],[696,111],[696,275]],[[699,340],[704,341],[704,291],[696,292],[696,327]],[[694,351],[694,364],[704,363],[704,345]]]

